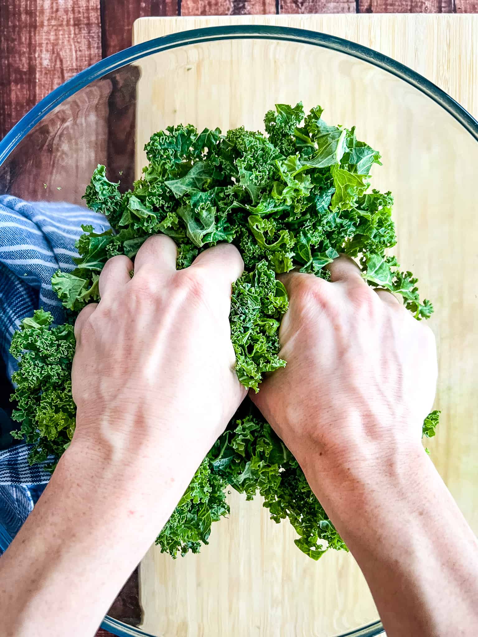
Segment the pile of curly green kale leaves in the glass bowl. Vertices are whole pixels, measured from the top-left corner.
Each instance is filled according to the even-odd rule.
[[[339,252],[358,258],[365,280],[400,294],[415,317],[430,317],[430,301],[420,301],[417,280],[386,256],[396,243],[390,192],[368,191],[380,155],[355,130],[330,126],[317,106],[305,117],[302,104],[277,104],[264,118],[266,134],[243,127],[222,135],[198,133],[192,125],[168,127],[145,146],[148,166],[133,189],[120,192],[98,166],[86,189],[89,208],[106,215],[112,229],[102,234],[83,226],[73,273],[57,271],[52,285],[69,320],[52,327],[43,310],[26,318],[15,333],[11,353],[19,357],[13,417],[18,438],[34,448],[31,461],[58,458],[75,429],[71,362],[75,315],[99,301],[98,278],[117,254],[131,259],[147,236],[164,233],[178,245],[178,268],[220,241],[238,247],[245,262],[233,286],[231,338],[240,382],[258,390],[264,373],[283,367],[278,330],[287,310],[287,292],[276,273],[328,277],[324,269]],[[438,412],[424,423],[435,434]],[[344,542],[314,494],[298,463],[249,399],[240,406],[199,467],[170,520],[157,537],[173,557],[208,543],[211,524],[229,513],[228,485],[252,499],[264,498],[275,522],[288,518],[296,545],[318,559]]]

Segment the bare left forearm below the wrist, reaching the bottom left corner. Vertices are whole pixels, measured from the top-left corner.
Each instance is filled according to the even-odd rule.
[[[72,443],[0,561],[3,635],[94,634],[196,469],[184,448],[171,466],[177,445],[152,464],[147,448]]]

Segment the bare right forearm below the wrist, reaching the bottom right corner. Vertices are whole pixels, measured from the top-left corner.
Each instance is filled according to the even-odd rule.
[[[367,468],[375,452],[341,468],[308,452],[303,467],[365,575],[387,636],[474,637],[474,534],[419,443],[404,445],[380,472]]]

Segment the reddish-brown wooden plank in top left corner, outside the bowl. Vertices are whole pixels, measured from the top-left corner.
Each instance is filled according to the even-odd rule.
[[[1,0],[0,137],[42,97],[101,59],[98,0]]]

